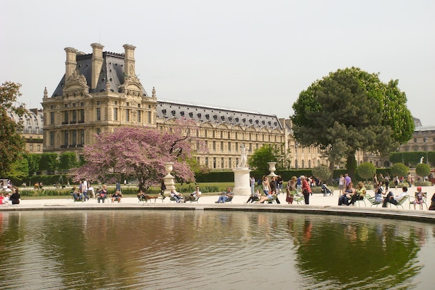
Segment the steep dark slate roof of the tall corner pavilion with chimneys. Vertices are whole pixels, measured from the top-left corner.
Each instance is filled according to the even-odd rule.
[[[85,76],[86,83],[88,83],[89,93],[104,92],[106,90],[106,83],[109,82],[110,91],[120,92],[120,85],[124,84],[124,53],[103,52],[103,65],[99,73],[99,81],[95,89],[91,89],[92,83],[92,53],[77,54],[77,67],[76,70],[80,75]],[[51,97],[63,96],[63,87],[65,85],[65,74],[62,80],[54,90]],[[142,91],[145,96],[147,92]]]

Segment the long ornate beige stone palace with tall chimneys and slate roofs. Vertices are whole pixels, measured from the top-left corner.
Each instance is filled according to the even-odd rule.
[[[83,145],[95,142],[95,134],[120,126],[149,126],[169,130],[174,118],[193,119],[194,134],[208,147],[197,152],[197,161],[212,170],[236,167],[240,147],[250,153],[270,144],[286,155],[287,168],[313,168],[327,164],[315,146],[297,146],[289,119],[275,115],[230,110],[217,106],[159,101],[156,89],[149,95],[136,75],[135,46],[124,44],[123,53],[103,51],[91,44],[92,53],[65,48],[65,75],[49,96],[44,90],[43,151],[80,153]],[[195,148],[195,144],[192,144]],[[383,166],[379,156],[359,152],[358,164]]]

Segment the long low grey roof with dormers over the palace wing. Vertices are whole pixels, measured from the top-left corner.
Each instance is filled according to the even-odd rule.
[[[157,101],[156,110],[158,119],[186,118],[193,119],[197,123],[208,122],[216,125],[226,124],[227,126],[267,128],[268,130],[281,130],[283,128],[277,116],[259,112],[193,105],[175,101]]]

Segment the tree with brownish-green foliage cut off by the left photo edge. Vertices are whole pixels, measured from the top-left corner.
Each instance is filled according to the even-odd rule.
[[[0,86],[0,176],[6,178],[6,174],[12,169],[13,163],[22,158],[26,142],[19,135],[22,123],[10,119],[8,110],[19,116],[26,112],[24,106],[16,106],[20,84],[6,82]]]

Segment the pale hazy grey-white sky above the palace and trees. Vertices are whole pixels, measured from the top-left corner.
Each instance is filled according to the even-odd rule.
[[[141,0],[0,3],[0,82],[42,108],[65,74],[65,47],[124,53],[158,100],[288,118],[299,93],[346,67],[399,80],[407,108],[435,125],[433,0]]]

